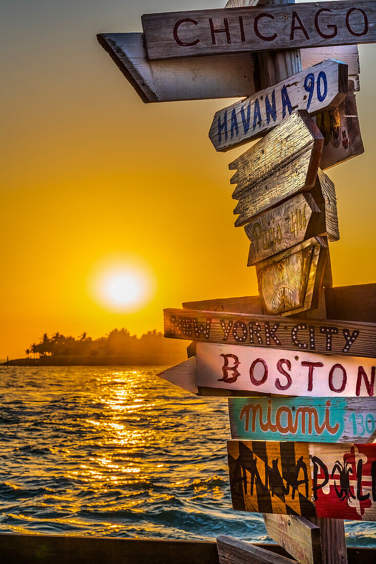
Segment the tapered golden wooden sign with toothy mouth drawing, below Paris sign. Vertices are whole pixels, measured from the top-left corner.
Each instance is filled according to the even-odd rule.
[[[315,237],[256,264],[266,314],[294,315],[317,306],[327,246]]]

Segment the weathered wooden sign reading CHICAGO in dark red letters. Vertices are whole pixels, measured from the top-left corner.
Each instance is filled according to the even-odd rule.
[[[375,6],[361,0],[189,12],[141,18],[149,60],[376,40]]]

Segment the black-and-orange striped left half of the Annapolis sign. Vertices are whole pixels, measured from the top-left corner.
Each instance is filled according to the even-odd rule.
[[[233,508],[316,515],[307,443],[229,440]]]

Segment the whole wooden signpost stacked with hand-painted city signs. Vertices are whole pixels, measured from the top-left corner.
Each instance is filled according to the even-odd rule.
[[[357,43],[375,41],[375,8],[229,0],[98,36],[144,102],[245,98],[216,113],[217,151],[263,137],[229,165],[260,296],[165,310],[165,337],[192,342],[160,376],[234,396],[234,509],[263,512],[301,564],[347,564],[343,519],[376,521],[376,285],[330,288],[339,228],[323,173],[364,151]],[[231,537],[217,545],[220,562],[291,562]]]

